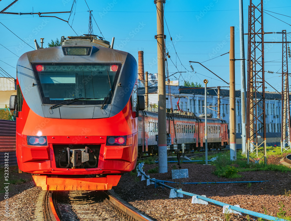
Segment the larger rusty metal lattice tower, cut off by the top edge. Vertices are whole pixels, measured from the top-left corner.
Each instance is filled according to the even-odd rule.
[[[256,2],[254,4],[253,2]],[[266,155],[263,0],[250,0],[248,34],[247,159],[250,152]],[[259,134],[260,133],[260,134]],[[253,145],[252,145],[253,141]],[[252,158],[252,157],[251,157]],[[252,158],[253,159],[253,158]],[[259,160],[260,160],[259,159]],[[255,160],[255,159],[253,159]],[[255,161],[258,162],[258,161]]]

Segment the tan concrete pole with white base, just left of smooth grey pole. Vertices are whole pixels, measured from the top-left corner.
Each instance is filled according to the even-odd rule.
[[[235,27],[230,27],[229,50],[229,140],[230,160],[236,160],[236,128],[235,128]]]

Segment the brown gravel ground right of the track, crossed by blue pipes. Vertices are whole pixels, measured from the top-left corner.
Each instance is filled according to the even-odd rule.
[[[282,156],[270,156],[268,163],[279,164]],[[172,180],[171,170],[177,168],[176,164],[169,164],[168,173],[149,174],[148,170],[155,168],[156,164],[145,165],[144,171],[151,178],[160,180]],[[218,178],[212,174],[214,166],[201,164],[182,164],[182,169],[188,169],[189,178],[176,180],[176,182],[225,182],[225,181],[261,181],[271,182],[239,184],[170,184],[171,187],[182,188],[183,191],[206,195],[206,197],[228,203],[238,204],[241,208],[258,213],[277,216],[283,203],[286,216],[291,216],[290,197],[285,194],[285,189],[291,189],[291,173],[276,171],[239,172],[242,178],[227,179]],[[149,214],[156,220],[225,220],[222,208],[214,205],[198,205],[191,203],[191,197],[169,199],[170,190],[146,185],[146,181],[140,181],[141,177],[131,176],[129,173],[122,175],[115,192],[123,196],[134,207]],[[285,195],[284,195],[285,194]],[[282,204],[281,204],[282,205]],[[232,215],[230,220],[247,220],[246,217]]]

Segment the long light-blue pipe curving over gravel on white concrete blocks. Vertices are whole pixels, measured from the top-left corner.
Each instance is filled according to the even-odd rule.
[[[155,180],[151,179],[149,176],[145,175],[145,173],[142,172],[141,165],[143,165],[143,163],[139,164],[139,171],[141,172],[141,174],[143,174],[147,179],[150,179],[150,181],[156,182]],[[252,215],[252,216],[255,216],[255,217],[261,217],[261,218],[266,219],[266,220],[286,221],[286,220],[281,219],[281,218],[265,215],[265,214],[262,214],[262,213],[257,213],[257,212],[251,211],[251,210],[246,210],[246,209],[243,209],[243,208],[232,206],[232,205],[229,205],[227,203],[222,203],[222,202],[219,202],[217,200],[210,199],[210,198],[207,198],[207,197],[204,197],[204,196],[200,196],[200,195],[193,194],[193,193],[188,193],[188,192],[185,192],[185,191],[182,191],[182,190],[167,186],[167,185],[165,185],[163,183],[160,183],[160,182],[158,183],[158,185],[166,187],[168,189],[174,189],[175,192],[182,193],[182,194],[187,195],[187,196],[197,196],[198,199],[202,199],[204,201],[207,201],[207,202],[210,202],[210,203],[214,203],[214,204],[222,206],[222,207],[223,206],[229,206],[229,208],[232,209],[232,210],[235,210],[235,211],[238,211],[238,212],[241,212],[241,213],[245,213],[245,214],[249,214],[249,215]]]

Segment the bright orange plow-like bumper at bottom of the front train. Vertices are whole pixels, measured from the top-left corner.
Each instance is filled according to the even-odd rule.
[[[32,176],[34,182],[42,190],[108,190],[116,186],[121,175],[107,175],[96,178],[53,178],[48,176]]]

